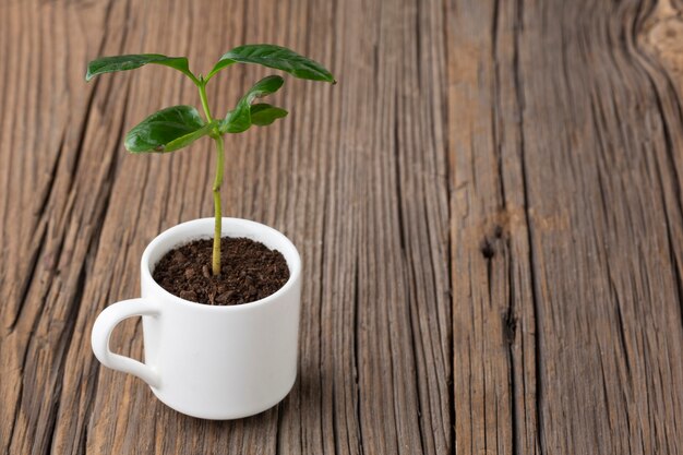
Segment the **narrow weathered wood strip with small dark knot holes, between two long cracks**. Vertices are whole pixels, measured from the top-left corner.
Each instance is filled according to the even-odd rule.
[[[448,21],[455,435],[458,453],[536,453],[536,312],[514,2]]]

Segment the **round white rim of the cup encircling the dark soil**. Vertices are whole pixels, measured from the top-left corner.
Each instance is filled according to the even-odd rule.
[[[274,294],[264,297],[263,299],[259,299],[259,300],[254,300],[252,302],[247,302],[247,303],[240,303],[240,304],[233,304],[233,306],[216,306],[216,304],[207,304],[207,303],[200,303],[200,302],[193,302],[190,300],[185,300],[183,298],[180,298],[178,296],[175,296],[172,294],[170,294],[169,291],[167,291],[166,289],[164,289],[152,276],[152,272],[151,272],[151,266],[152,264],[149,264],[149,256],[152,255],[152,253],[156,250],[156,248],[158,248],[159,243],[161,243],[164,240],[166,240],[168,237],[172,237],[175,234],[177,234],[179,230],[184,230],[185,228],[192,226],[192,225],[205,225],[208,224],[211,226],[211,229],[207,231],[207,234],[209,236],[213,236],[213,227],[214,227],[214,218],[197,218],[197,219],[192,219],[190,221],[184,221],[184,223],[180,223],[178,225],[175,225],[166,230],[164,230],[163,232],[160,232],[158,236],[156,236],[145,248],[144,252],[142,253],[142,260],[141,260],[141,273],[142,273],[142,278],[144,280],[147,280],[148,283],[152,283],[152,285],[154,286],[155,290],[157,292],[159,292],[163,298],[165,300],[169,300],[182,306],[191,306],[193,309],[197,310],[205,310],[205,311],[216,311],[216,312],[239,312],[239,311],[248,311],[248,310],[253,310],[255,308],[259,307],[263,307],[266,306],[277,299],[280,298],[280,296],[284,296],[285,294],[287,294],[289,291],[289,289],[291,289],[296,283],[299,280],[299,276],[301,275],[301,256],[299,254],[299,250],[297,250],[297,247],[293,244],[293,242],[291,240],[289,240],[289,238],[287,238],[287,236],[285,236],[283,232],[280,232],[277,229],[274,229],[267,225],[257,223],[257,221],[252,221],[250,219],[243,219],[243,218],[232,218],[232,217],[223,217],[223,228],[226,228],[226,225],[242,225],[242,226],[247,226],[247,227],[254,227],[257,230],[265,230],[267,235],[272,235],[274,237],[276,237],[278,239],[279,242],[286,244],[287,247],[289,247],[291,249],[290,252],[288,252],[288,254],[286,255],[284,251],[280,251],[278,249],[278,251],[280,251],[280,253],[285,256],[285,260],[287,261],[287,266],[289,267],[289,279],[287,279],[287,283],[285,283],[283,285],[283,287],[280,287],[278,290],[276,290]],[[201,238],[202,234],[197,235],[197,238]],[[253,240],[255,241],[262,241],[260,240],[260,238],[263,238],[264,236],[262,234],[255,235],[253,237]],[[180,243],[178,243],[180,244]],[[177,244],[177,246],[178,246]],[[171,249],[175,247],[171,247]],[[168,251],[165,251],[164,254],[166,254]],[[290,255],[290,258],[288,258],[288,255]],[[289,259],[291,259],[291,264]]]

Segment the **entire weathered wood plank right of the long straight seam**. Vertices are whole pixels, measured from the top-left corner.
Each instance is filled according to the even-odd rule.
[[[450,2],[463,453],[683,450],[680,97],[588,3]]]

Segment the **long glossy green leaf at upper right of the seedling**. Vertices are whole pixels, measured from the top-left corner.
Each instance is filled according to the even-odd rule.
[[[336,83],[334,76],[322,64],[293,50],[275,45],[245,45],[226,52],[206,76],[209,80],[218,71],[232,63],[256,63],[283,70],[295,77]]]

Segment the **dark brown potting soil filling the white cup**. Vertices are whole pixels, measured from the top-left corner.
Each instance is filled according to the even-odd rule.
[[[161,258],[154,280],[181,299],[208,304],[240,304],[263,299],[289,279],[283,254],[245,238],[220,239],[220,275],[212,274],[213,239],[194,240]]]

